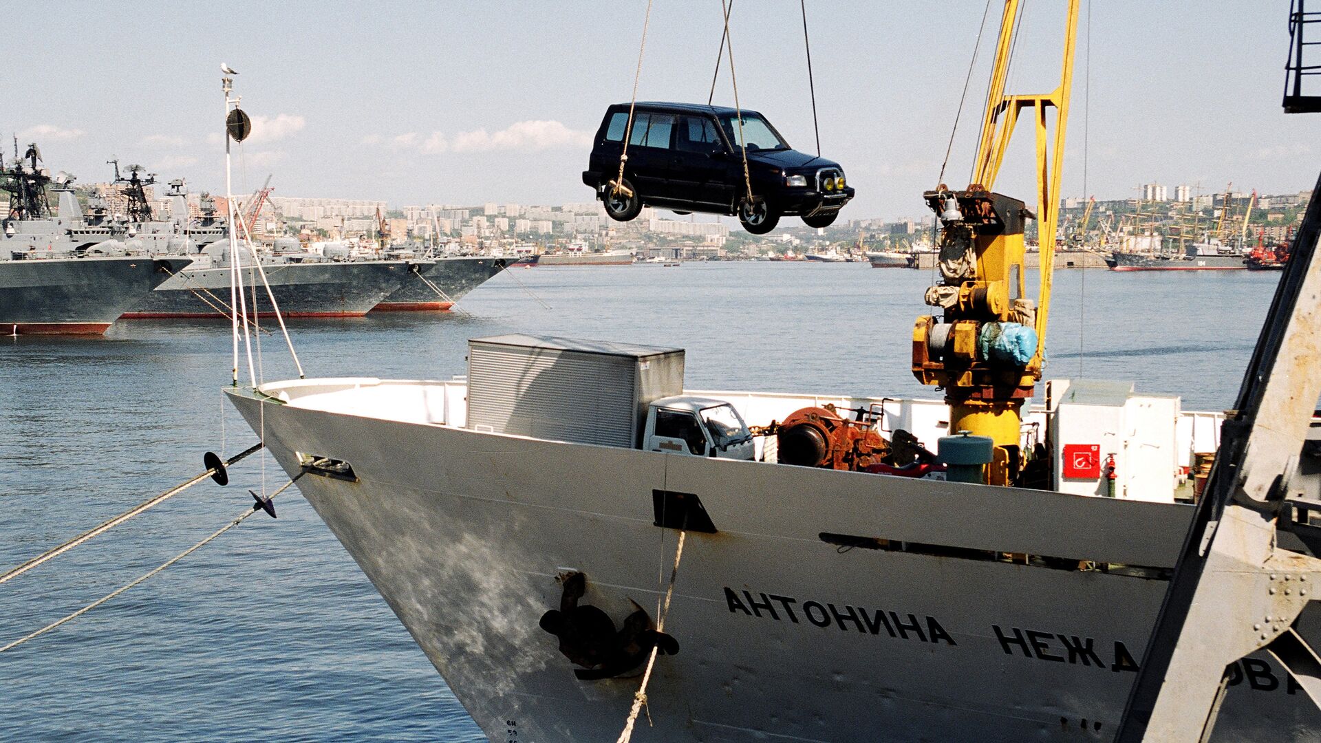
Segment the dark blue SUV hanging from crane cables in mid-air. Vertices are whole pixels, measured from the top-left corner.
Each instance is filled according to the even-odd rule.
[[[793,149],[761,114],[740,116],[734,108],[692,103],[638,103],[631,131],[629,104],[610,106],[583,182],[621,222],[643,206],[658,206],[682,214],[737,214],[744,229],[758,235],[775,229],[781,217],[828,226],[853,198],[839,163]]]

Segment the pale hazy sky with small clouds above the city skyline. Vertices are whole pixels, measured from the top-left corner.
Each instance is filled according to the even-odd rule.
[[[1091,4],[1091,30],[1086,28]],[[1055,85],[1059,1],[1026,4],[1012,93]],[[847,217],[922,213],[935,185],[984,4],[808,0],[823,155],[859,196]],[[256,119],[235,190],[392,205],[588,201],[590,134],[633,87],[645,0],[583,3],[30,3],[0,61],[0,127],[83,182],[141,163],[223,186],[219,63]],[[946,181],[966,185],[1000,3],[995,0]],[[1321,118],[1284,115],[1288,1],[1083,1],[1065,196],[1140,182],[1206,193],[1310,188]],[[736,0],[742,106],[814,149],[797,1]],[[20,33],[21,36],[15,36]],[[655,0],[639,99],[707,99],[719,0]],[[1087,45],[1091,45],[1090,65]],[[24,42],[24,46],[17,44]],[[1318,59],[1312,63],[1321,63]],[[1090,69],[1089,69],[1090,67]],[[1090,78],[1090,97],[1087,79]],[[1090,99],[1090,100],[1089,100]],[[728,67],[716,103],[733,103]],[[5,137],[8,139],[8,136]],[[997,186],[1033,202],[1032,130]],[[9,156],[9,147],[5,147]]]

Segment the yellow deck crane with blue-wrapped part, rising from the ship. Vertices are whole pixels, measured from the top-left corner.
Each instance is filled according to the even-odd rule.
[[[995,459],[985,471],[993,485],[1015,484],[1022,469],[1020,410],[1041,378],[1078,28],[1078,0],[1070,0],[1055,90],[1007,95],[1020,9],[1018,0],[1005,0],[972,182],[964,190],[941,184],[923,194],[942,223],[942,282],[927,290],[926,301],[942,308],[943,317],[918,317],[913,329],[913,374],[925,385],[945,387],[951,432],[993,440]],[[1055,108],[1053,137],[1048,135],[1050,107]],[[1024,111],[1036,130],[1036,215],[1022,201],[992,190]],[[1025,296],[1024,280],[1024,225],[1030,218],[1037,219],[1041,246],[1036,301]]]

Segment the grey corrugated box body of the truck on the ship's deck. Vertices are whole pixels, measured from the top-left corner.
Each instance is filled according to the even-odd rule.
[[[468,341],[468,427],[637,448],[651,401],[683,393],[683,349],[550,336]]]

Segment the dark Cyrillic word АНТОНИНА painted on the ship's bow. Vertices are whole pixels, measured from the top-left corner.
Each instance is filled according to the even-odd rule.
[[[859,635],[884,632],[897,640],[958,645],[939,620],[930,615],[918,616],[830,602],[799,602],[793,596],[746,590],[734,591],[729,587],[725,587],[725,603],[731,613],[742,613],[754,619],[793,624],[803,624],[802,619],[806,619],[807,624],[822,629],[834,627],[840,632],[857,632]],[[1100,661],[1098,660],[1098,662]]]

